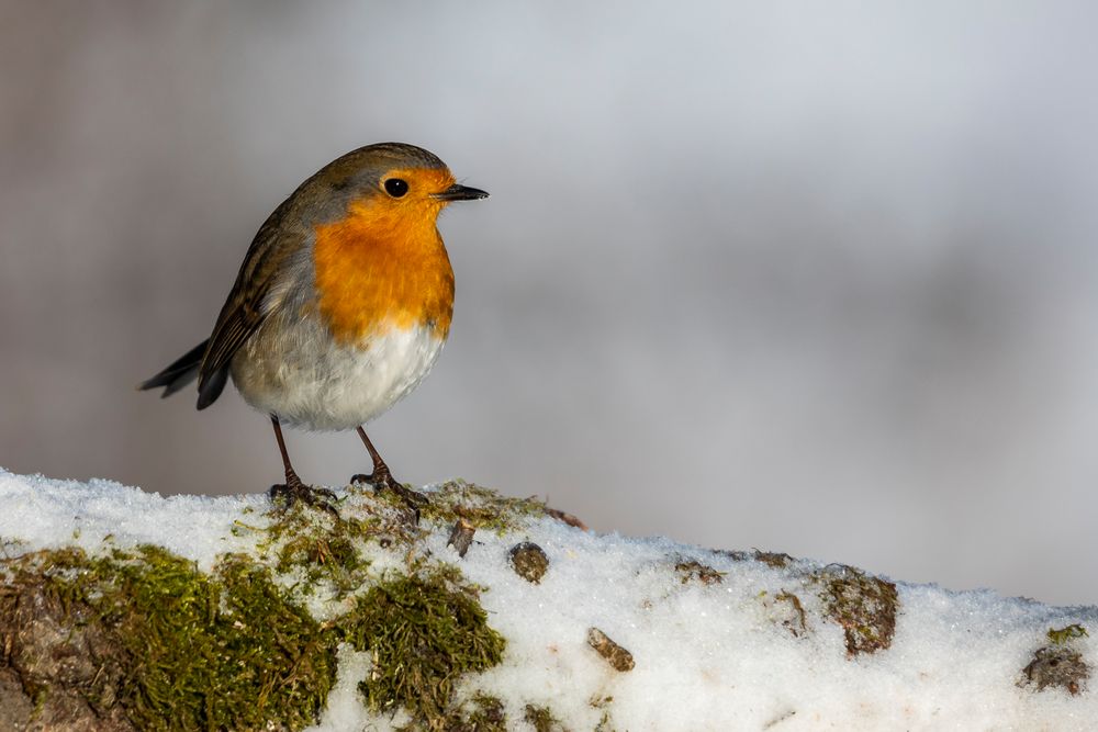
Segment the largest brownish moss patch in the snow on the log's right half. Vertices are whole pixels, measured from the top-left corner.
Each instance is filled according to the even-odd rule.
[[[816,573],[828,618],[842,626],[847,655],[875,653],[892,645],[899,598],[896,585],[852,566],[830,566]]]

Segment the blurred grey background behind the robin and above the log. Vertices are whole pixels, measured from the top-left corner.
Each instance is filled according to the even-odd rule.
[[[134,385],[305,177],[412,142],[441,221],[404,481],[601,531],[1098,603],[1098,7],[0,2],[0,465],[281,478],[267,419]],[[232,393],[231,393],[232,392]],[[306,481],[368,470],[292,432]]]

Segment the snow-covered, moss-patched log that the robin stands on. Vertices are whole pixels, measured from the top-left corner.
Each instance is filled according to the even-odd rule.
[[[424,491],[416,522],[0,471],[0,729],[1098,728],[1098,608]]]

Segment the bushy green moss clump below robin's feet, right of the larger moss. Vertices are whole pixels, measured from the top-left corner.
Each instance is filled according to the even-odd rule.
[[[415,729],[444,730],[457,680],[500,663],[504,639],[457,576],[450,567],[388,579],[340,618],[345,640],[372,656],[360,685],[371,710],[403,707]]]

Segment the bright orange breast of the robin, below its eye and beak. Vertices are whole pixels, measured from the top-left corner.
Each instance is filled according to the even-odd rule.
[[[344,219],[315,228],[320,313],[341,342],[416,325],[446,338],[453,270],[435,226],[441,206],[388,204],[352,203]]]

